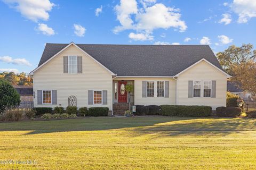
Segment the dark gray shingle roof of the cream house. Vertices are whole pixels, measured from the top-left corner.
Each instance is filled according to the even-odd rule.
[[[68,44],[46,44],[42,65]],[[221,69],[208,45],[76,44],[118,76],[173,76],[205,58]]]

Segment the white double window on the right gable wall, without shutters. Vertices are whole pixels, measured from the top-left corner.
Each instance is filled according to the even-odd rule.
[[[203,87],[203,97],[211,97],[212,81],[193,81],[193,97],[201,97],[201,89]]]

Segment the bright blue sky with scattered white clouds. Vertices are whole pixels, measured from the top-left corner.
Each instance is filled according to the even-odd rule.
[[[0,72],[35,69],[45,43],[256,46],[256,0],[0,0],[0,23]]]

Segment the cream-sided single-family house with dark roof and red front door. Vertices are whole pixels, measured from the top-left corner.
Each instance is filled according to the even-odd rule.
[[[226,106],[227,78],[207,45],[46,44],[34,107]],[[133,84],[131,95],[126,84]]]

